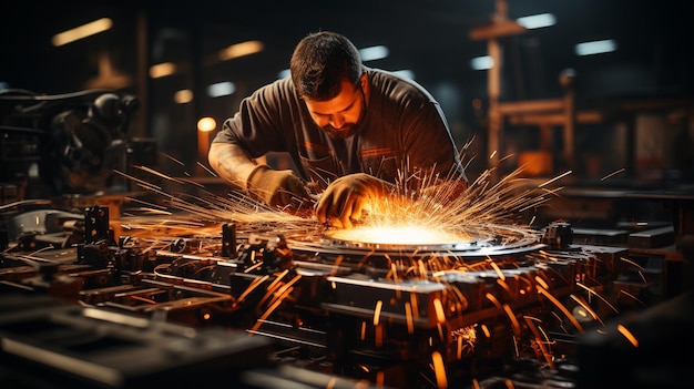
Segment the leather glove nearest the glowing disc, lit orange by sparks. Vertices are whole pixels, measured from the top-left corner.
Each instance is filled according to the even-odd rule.
[[[355,173],[335,180],[320,195],[316,204],[318,222],[351,228],[353,221],[358,221],[361,213],[376,197],[391,192],[394,184],[366,173]]]

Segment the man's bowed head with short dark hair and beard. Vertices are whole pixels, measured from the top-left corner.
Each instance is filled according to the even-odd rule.
[[[312,33],[296,45],[289,70],[316,124],[333,137],[353,135],[368,93],[357,48],[335,32]]]

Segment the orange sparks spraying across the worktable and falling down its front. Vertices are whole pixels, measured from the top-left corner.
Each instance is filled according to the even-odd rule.
[[[446,372],[448,356],[455,356],[458,361],[463,360],[465,357],[474,354],[478,339],[481,342],[489,342],[488,339],[492,335],[504,336],[497,321],[490,320],[484,315],[499,316],[498,319],[504,321],[503,330],[512,337],[517,356],[521,355],[525,344],[538,359],[550,367],[553,366],[554,359],[549,332],[545,331],[540,318],[524,315],[522,309],[530,304],[539,303],[544,308],[561,313],[561,315],[552,313],[558,321],[568,319],[571,323],[571,328],[565,329],[565,332],[583,332],[584,321],[579,323],[572,316],[571,306],[564,303],[567,298],[573,306],[581,307],[581,311],[594,321],[602,324],[596,311],[585,299],[569,296],[567,290],[575,291],[573,288],[564,287],[562,291],[554,294],[554,290],[562,286],[575,284],[574,274],[562,274],[555,266],[538,266],[532,270],[521,272],[523,266],[529,266],[521,264],[522,262],[544,265],[557,265],[569,259],[584,262],[589,257],[584,253],[533,250],[524,253],[522,260],[488,257],[474,263],[457,257],[456,253],[445,253],[436,257],[416,256],[418,250],[426,246],[457,245],[461,242],[488,240],[507,247],[514,247],[518,242],[537,243],[540,236],[538,231],[523,222],[523,217],[531,213],[529,211],[544,205],[552,196],[557,196],[560,188],[549,186],[571,172],[541,185],[533,185],[530,180],[522,177],[521,170],[498,183],[492,182],[491,172],[487,171],[462,193],[456,192],[453,186],[442,185],[441,180],[433,175],[421,172],[404,174],[402,181],[397,183],[391,196],[371,199],[368,212],[354,228],[338,229],[319,224],[313,215],[294,215],[271,208],[238,192],[231,191],[226,196],[220,196],[187,180],[144,167],[141,170],[160,180],[170,181],[169,186],[182,188],[172,193],[171,190],[164,190],[166,185],[159,186],[133,178],[137,185],[164,199],[164,202],[143,202],[131,198],[132,202],[137,202],[136,211],[144,216],[133,213],[122,217],[120,222],[123,229],[133,234],[144,231],[146,234],[142,236],[149,238],[153,235],[213,237],[220,235],[221,224],[234,223],[242,235],[285,235],[295,239],[302,237],[299,243],[325,242],[327,237],[331,244],[341,240],[361,244],[359,247],[374,247],[374,250],[360,252],[364,260],[372,256],[381,245],[395,247],[392,253],[387,252],[382,255],[387,265],[384,266],[382,277],[378,279],[380,283],[394,285],[390,289],[392,293],[387,295],[387,298],[375,297],[368,305],[372,317],[356,325],[356,338],[361,344],[368,342],[370,347],[380,350],[392,347],[389,337],[392,336],[394,320],[401,318],[402,332],[411,338],[422,330],[422,323],[430,324],[435,334],[427,335],[429,346],[433,350],[430,354],[432,367],[430,372],[433,373],[431,378],[438,388],[449,385]],[[419,183],[419,187],[411,187],[411,177],[416,177],[414,182]],[[156,239],[152,239],[153,247],[157,247]],[[165,247],[167,242],[159,244],[159,247]],[[416,248],[408,252],[411,247]],[[404,258],[402,255],[397,255],[400,254],[395,253],[398,249],[411,257],[408,258],[406,255]],[[251,259],[255,265],[246,267],[245,274],[257,273],[262,268],[262,258]],[[330,264],[330,276],[339,276],[343,260],[341,254],[336,256]],[[255,278],[234,301],[236,308],[245,301],[254,300],[253,304],[256,305],[254,310],[258,313],[259,318],[253,325],[251,334],[258,332],[264,323],[272,321],[274,315],[282,314],[284,303],[296,304],[293,294],[297,290],[300,294],[302,287],[305,287],[302,283],[307,280],[306,278],[290,277],[287,272],[275,272],[272,276],[263,275]],[[442,285],[440,296],[427,299],[428,295],[418,294],[417,287],[407,286],[407,283],[412,280]],[[588,280],[585,279],[586,283]],[[481,285],[481,289],[476,289],[478,285]],[[598,294],[596,288],[579,286],[586,289],[589,297]],[[333,281],[331,287],[336,289],[341,286]],[[252,295],[259,298],[251,299]],[[550,304],[545,304],[547,301]],[[398,313],[398,309],[401,311]],[[474,313],[477,315],[468,315],[473,309],[477,309]],[[466,321],[468,320],[466,315],[474,316],[477,321]],[[433,342],[450,344],[451,352],[445,347],[442,350],[446,352],[435,350]],[[371,368],[364,366],[364,369],[367,371]],[[379,381],[384,381],[386,373],[375,372],[379,375],[377,376]]]

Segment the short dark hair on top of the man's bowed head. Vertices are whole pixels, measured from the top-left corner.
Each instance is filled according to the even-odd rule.
[[[319,31],[298,42],[289,71],[299,95],[326,101],[339,94],[343,80],[357,85],[364,66],[351,41],[336,32]]]

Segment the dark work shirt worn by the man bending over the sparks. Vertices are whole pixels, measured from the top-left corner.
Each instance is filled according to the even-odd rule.
[[[297,173],[322,187],[358,172],[400,184],[422,173],[467,182],[438,102],[411,80],[378,69],[366,71],[370,95],[365,116],[346,140],[334,140],[316,125],[285,78],[244,99],[213,142],[236,143],[254,158],[286,152]]]

